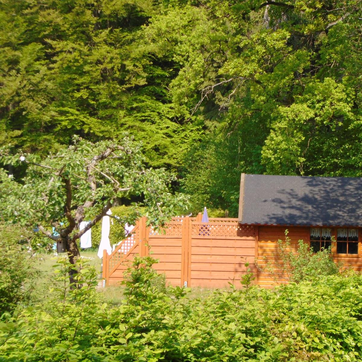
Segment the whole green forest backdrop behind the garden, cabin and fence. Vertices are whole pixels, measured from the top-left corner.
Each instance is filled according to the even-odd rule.
[[[361,6],[2,1],[0,147],[128,132],[193,212],[230,215],[241,172],[361,176]]]

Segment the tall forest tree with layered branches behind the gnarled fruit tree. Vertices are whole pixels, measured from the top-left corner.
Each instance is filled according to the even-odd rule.
[[[1,3],[3,142],[46,153],[73,134],[95,142],[128,131],[144,141],[149,164],[176,168],[174,63],[140,45],[157,9],[142,0]]]

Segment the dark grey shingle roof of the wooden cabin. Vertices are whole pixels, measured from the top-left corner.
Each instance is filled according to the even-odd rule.
[[[362,227],[361,177],[242,174],[239,222]]]

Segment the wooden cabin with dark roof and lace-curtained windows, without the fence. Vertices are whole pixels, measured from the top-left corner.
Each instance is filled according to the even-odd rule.
[[[286,229],[290,250],[296,251],[298,240],[314,252],[331,247],[334,261],[362,270],[361,201],[359,177],[242,174],[239,233],[255,238],[257,283],[287,281],[275,278],[281,264],[278,240],[285,240]]]

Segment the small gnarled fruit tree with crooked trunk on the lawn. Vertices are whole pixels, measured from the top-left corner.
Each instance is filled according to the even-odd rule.
[[[1,152],[4,164],[25,163],[26,175],[17,182],[0,169],[0,221],[37,227],[49,239],[62,241],[74,263],[79,256],[77,240],[102,219],[117,197],[141,197],[156,228],[173,215],[175,206],[186,207],[181,196],[168,190],[172,175],[144,167],[140,148],[131,139],[91,143],[75,137],[73,142],[46,157]],[[80,231],[83,220],[90,222]]]

